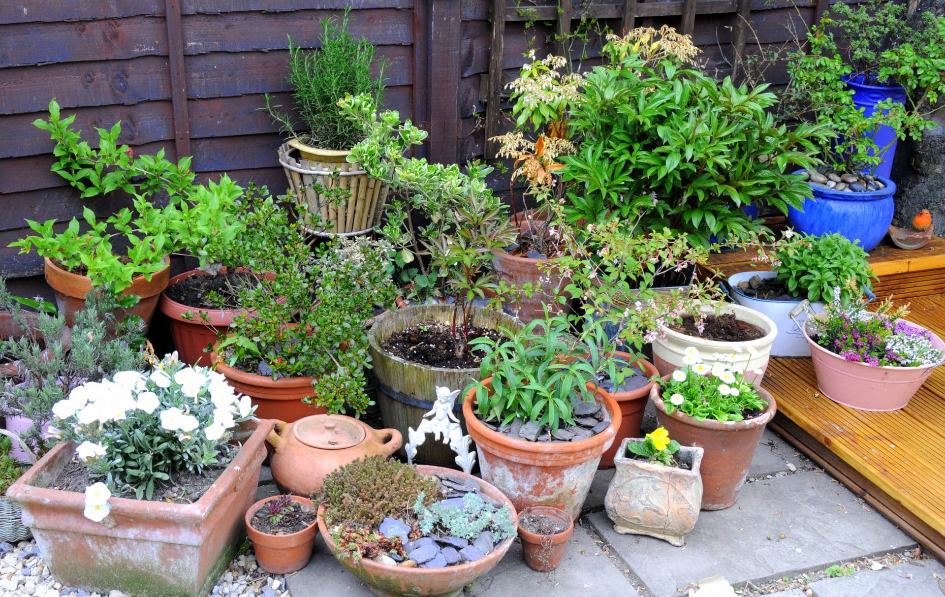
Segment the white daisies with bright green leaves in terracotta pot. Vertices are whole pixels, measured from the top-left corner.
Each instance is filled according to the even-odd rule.
[[[667,414],[679,410],[696,420],[713,418],[720,422],[738,421],[767,408],[767,401],[745,380],[744,374],[726,367],[734,354],[722,355],[711,365],[702,361],[695,347],[685,350],[685,366],[673,371],[668,381],[660,380],[662,403]],[[761,369],[754,369],[761,375]],[[655,378],[659,379],[659,378]]]

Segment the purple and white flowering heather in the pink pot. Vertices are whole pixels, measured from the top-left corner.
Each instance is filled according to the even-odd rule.
[[[933,346],[931,333],[901,319],[909,314],[908,304],[894,307],[886,299],[870,312],[855,287],[847,290],[854,293],[851,304],[843,304],[837,287],[824,314],[808,313],[807,329],[818,345],[870,367],[926,367],[945,358]]]

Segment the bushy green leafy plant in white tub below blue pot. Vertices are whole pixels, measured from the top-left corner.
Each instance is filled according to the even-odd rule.
[[[778,281],[795,297],[811,301],[831,299],[833,288],[839,287],[840,302],[850,305],[853,295],[868,290],[876,279],[859,242],[838,233],[801,236],[780,247],[776,255]],[[851,286],[860,290],[852,292]]]

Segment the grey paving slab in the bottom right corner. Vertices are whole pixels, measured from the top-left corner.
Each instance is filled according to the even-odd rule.
[[[880,571],[859,571],[852,576],[825,578],[811,583],[815,597],[942,597],[945,566],[936,560],[900,564]]]

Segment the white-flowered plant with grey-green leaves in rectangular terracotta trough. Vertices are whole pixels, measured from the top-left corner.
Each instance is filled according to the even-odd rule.
[[[112,495],[150,500],[177,471],[204,474],[237,450],[232,429],[253,417],[223,375],[181,363],[177,353],[155,361],[149,374],[119,371],[77,386],[53,405],[49,431],[77,444],[76,455],[102,482],[86,488],[85,515],[103,520]]]

